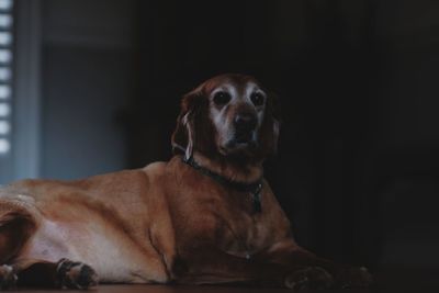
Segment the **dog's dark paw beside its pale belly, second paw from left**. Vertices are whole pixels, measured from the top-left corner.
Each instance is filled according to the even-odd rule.
[[[99,282],[95,271],[82,262],[61,259],[58,261],[56,272],[61,288],[88,289],[98,285]]]

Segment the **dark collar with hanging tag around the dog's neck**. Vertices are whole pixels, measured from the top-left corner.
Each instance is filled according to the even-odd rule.
[[[263,184],[263,177],[260,177],[258,180],[251,183],[244,183],[244,182],[236,182],[232,181],[224,176],[221,176],[214,171],[209,170],[207,168],[204,168],[203,166],[200,166],[191,156],[189,159],[182,158],[183,162],[187,165],[191,166],[193,169],[200,171],[202,174],[205,174],[219,184],[234,189],[238,192],[248,192],[251,193],[252,199],[254,199],[254,210],[257,213],[260,213],[262,211],[261,206],[261,191],[262,191],[262,184]]]

